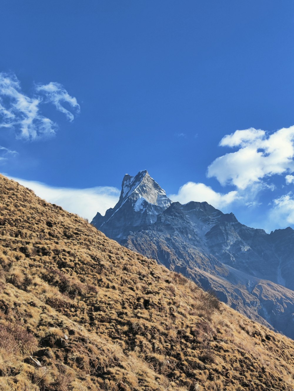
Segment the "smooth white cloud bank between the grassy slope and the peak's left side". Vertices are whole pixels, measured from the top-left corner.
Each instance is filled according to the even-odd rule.
[[[30,188],[38,197],[52,204],[60,205],[71,213],[91,221],[97,212],[102,215],[118,202],[120,190],[115,187],[93,187],[87,189],[58,188],[36,181],[9,177]]]

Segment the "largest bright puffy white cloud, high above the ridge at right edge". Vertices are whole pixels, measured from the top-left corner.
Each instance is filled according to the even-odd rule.
[[[222,138],[220,146],[238,147],[238,151],[216,158],[207,176],[221,185],[245,189],[274,174],[294,171],[294,126],[271,135],[261,129],[237,130]]]

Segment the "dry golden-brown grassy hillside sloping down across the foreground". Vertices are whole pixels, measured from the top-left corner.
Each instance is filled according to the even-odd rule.
[[[0,176],[0,390],[292,390],[294,342]]]

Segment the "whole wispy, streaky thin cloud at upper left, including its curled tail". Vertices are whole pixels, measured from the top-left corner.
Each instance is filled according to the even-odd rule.
[[[45,100],[42,94],[45,94]],[[14,74],[0,73],[0,127],[12,128],[17,137],[27,140],[54,135],[57,125],[40,110],[45,102],[52,102],[70,121],[73,114],[60,102],[68,102],[73,109],[80,110],[76,98],[71,97],[61,84],[38,85],[33,97],[29,97],[22,92]]]

